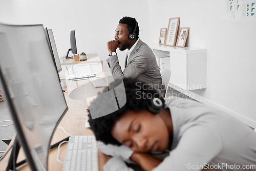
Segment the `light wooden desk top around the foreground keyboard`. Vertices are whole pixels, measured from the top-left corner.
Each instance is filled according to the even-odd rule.
[[[108,73],[109,74],[109,73]],[[108,75],[107,74],[107,75]],[[100,74],[99,74],[100,75]],[[105,74],[103,74],[105,75]],[[103,76],[101,73],[101,76]],[[74,81],[73,81],[74,83]],[[77,86],[77,84],[79,86]],[[87,101],[85,98],[81,100],[74,100],[69,97],[70,92],[74,91],[76,88],[83,87],[83,84],[90,85],[89,80],[81,80],[81,81],[75,81],[75,83],[68,84],[67,88],[62,88],[66,92],[63,93],[68,105],[69,110],[67,113],[63,116],[61,119],[60,123],[58,126],[61,126],[65,129],[65,131],[71,135],[93,135],[93,132],[85,127],[86,124],[86,116],[87,116]],[[87,92],[100,92],[103,88],[94,88],[91,84],[91,86],[87,87]],[[53,135],[53,139],[51,141],[51,144],[54,144],[64,138],[67,137],[67,134],[63,132],[62,129],[56,129]],[[11,148],[11,144],[9,145],[8,149]],[[66,149],[67,149],[68,143],[64,143],[60,146],[60,157],[59,159],[61,161],[65,160],[65,155],[66,155]],[[7,149],[7,151],[8,151]],[[58,149],[54,148],[50,151],[49,153],[49,158],[48,158],[48,170],[62,170],[63,164],[59,163],[56,158],[57,158],[57,153]],[[3,159],[0,161],[0,170],[1,168],[6,168],[7,163],[10,157],[10,153],[6,153]],[[22,161],[25,159],[24,152],[21,150],[19,152],[19,156],[17,161]],[[103,165],[107,161],[107,157],[103,155],[99,151],[99,168],[100,170],[103,170]],[[30,170],[30,167],[28,164],[25,164],[18,168],[18,170]]]

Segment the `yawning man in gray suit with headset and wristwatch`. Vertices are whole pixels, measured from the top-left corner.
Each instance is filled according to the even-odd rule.
[[[156,62],[156,57],[150,47],[139,39],[139,26],[135,18],[123,17],[116,28],[115,40],[107,42],[110,57],[106,59],[113,77],[137,78],[162,89],[162,77]],[[119,65],[116,49],[128,50],[125,58],[125,69]]]

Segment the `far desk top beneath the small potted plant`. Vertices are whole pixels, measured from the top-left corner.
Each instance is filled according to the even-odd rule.
[[[84,61],[74,61],[73,58],[60,58],[60,65],[73,65],[77,63],[90,63],[90,62],[102,62],[100,59],[99,55],[97,53],[88,53],[87,55],[87,60]]]

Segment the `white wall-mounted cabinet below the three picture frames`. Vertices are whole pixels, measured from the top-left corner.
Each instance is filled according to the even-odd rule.
[[[158,44],[152,45],[152,49],[159,68],[168,66],[167,69],[172,71],[170,84],[174,87],[183,90],[206,88],[206,49],[166,47]],[[166,59],[169,59],[169,63]]]

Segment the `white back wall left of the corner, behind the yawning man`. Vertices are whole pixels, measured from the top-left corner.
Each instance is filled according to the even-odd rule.
[[[106,42],[114,38],[116,26],[123,16],[137,19],[140,38],[149,40],[147,0],[0,0],[0,22],[14,25],[43,24],[53,30],[59,57],[70,48],[70,31],[75,30],[78,53],[97,53],[109,71]],[[71,53],[71,52],[70,52]],[[124,66],[125,52],[118,50]]]

